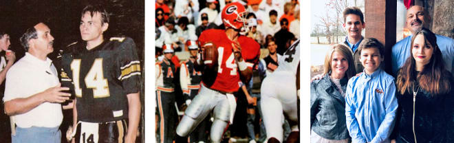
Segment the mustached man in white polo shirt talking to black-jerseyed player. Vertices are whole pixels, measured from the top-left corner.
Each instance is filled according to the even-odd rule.
[[[44,23],[21,36],[25,56],[6,74],[5,111],[15,120],[12,142],[61,142],[58,130],[63,120],[61,102],[69,90],[61,87],[56,69],[47,54],[54,51],[54,37]]]

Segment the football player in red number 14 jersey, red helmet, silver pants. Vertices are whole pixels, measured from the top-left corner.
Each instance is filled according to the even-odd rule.
[[[210,111],[214,115],[210,129],[211,142],[221,142],[226,126],[232,123],[236,108],[233,92],[250,80],[252,65],[257,63],[260,55],[259,43],[239,34],[246,24],[246,15],[243,5],[229,3],[221,14],[226,30],[205,30],[199,36],[199,45],[205,48],[214,45],[219,56],[215,57],[217,63],[214,63],[214,69],[204,68],[202,87],[178,124],[178,135],[191,133]],[[213,61],[197,60],[197,64],[202,66],[213,64],[210,62]]]

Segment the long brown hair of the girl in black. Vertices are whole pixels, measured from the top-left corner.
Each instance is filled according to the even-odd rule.
[[[422,28],[411,38],[410,53],[413,53],[413,42],[418,34],[422,34],[424,36],[425,43],[430,43],[432,45],[433,54],[429,63],[424,65],[419,74],[416,72],[416,63],[413,54],[407,58],[407,61],[405,61],[404,66],[402,66],[398,74],[396,82],[398,91],[403,95],[405,91],[409,91],[411,93],[413,89],[419,86],[421,89],[428,91],[432,96],[437,94],[446,94],[451,90],[451,83],[449,80],[451,78],[451,74],[444,69],[442,52],[437,45],[437,38],[433,32],[426,28]],[[416,83],[419,84],[416,85]]]

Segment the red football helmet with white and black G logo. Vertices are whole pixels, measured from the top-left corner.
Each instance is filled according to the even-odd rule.
[[[246,26],[246,8],[239,2],[229,3],[222,9],[222,22],[226,28],[241,30]]]

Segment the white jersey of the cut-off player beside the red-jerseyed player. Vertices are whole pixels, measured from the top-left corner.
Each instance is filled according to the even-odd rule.
[[[299,64],[299,39],[288,47],[288,50],[278,59],[278,63],[279,66],[274,72],[292,72],[293,75],[296,75]]]

